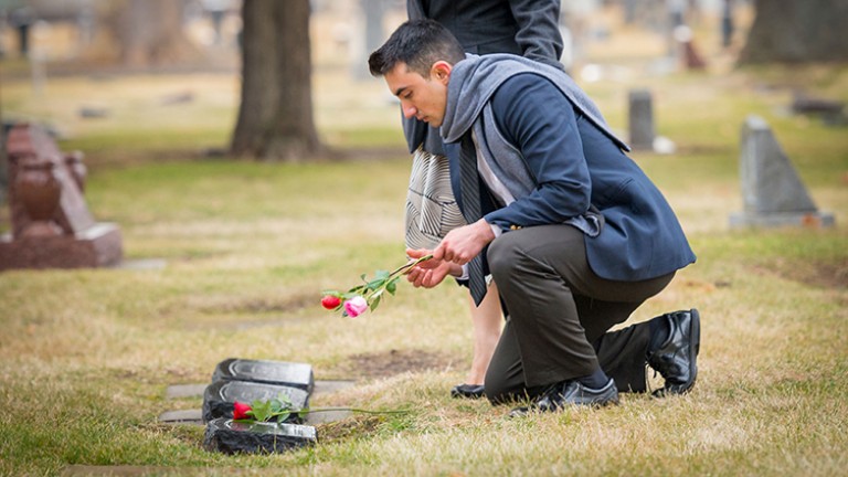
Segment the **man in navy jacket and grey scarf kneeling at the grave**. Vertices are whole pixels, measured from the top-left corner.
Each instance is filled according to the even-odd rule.
[[[606,405],[643,392],[689,391],[697,377],[695,309],[611,332],[695,254],[656,186],[594,103],[562,71],[521,56],[466,55],[444,26],[401,25],[371,54],[406,117],[441,127],[454,193],[469,225],[412,269],[416,287],[452,275],[479,304],[490,273],[508,317],[486,374],[492,403],[528,411]]]

